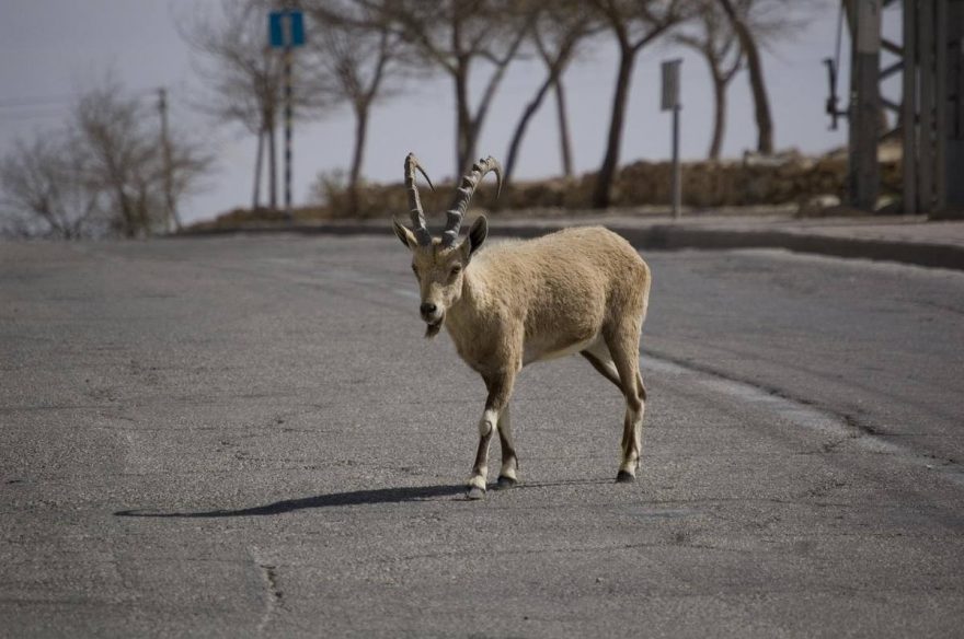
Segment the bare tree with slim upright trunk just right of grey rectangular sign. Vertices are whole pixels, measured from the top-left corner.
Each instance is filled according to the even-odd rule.
[[[741,9],[753,0],[736,0]],[[726,132],[726,91],[743,60],[743,49],[736,42],[732,23],[716,0],[699,0],[692,28],[677,32],[673,39],[699,53],[710,71],[713,84],[713,132],[709,160],[719,160]]]

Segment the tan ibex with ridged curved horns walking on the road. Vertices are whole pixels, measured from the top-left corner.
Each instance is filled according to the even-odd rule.
[[[479,449],[468,497],[485,495],[489,443],[498,432],[502,469],[496,488],[518,480],[509,422],[516,375],[526,364],[578,352],[626,397],[622,458],[617,481],[633,481],[640,464],[646,388],[640,375],[640,333],[650,295],[650,268],[629,243],[600,226],[566,229],[526,242],[482,244],[489,223],[480,216],[464,240],[459,228],[482,177],[502,170],[486,158],[462,178],[440,237],[425,226],[413,154],[405,158],[412,229],[393,220],[412,251],[426,337],[443,326],[459,356],[482,375],[489,396],[479,421]],[[432,182],[428,181],[432,186]],[[434,188],[434,187],[433,187]]]

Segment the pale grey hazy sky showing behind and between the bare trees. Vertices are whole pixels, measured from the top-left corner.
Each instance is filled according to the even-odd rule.
[[[210,218],[232,207],[250,206],[254,138],[238,127],[215,126],[192,108],[203,95],[202,83],[175,27],[175,18],[188,16],[215,1],[0,0],[0,153],[7,153],[18,137],[30,138],[36,130],[59,126],[71,96],[110,69],[148,105],[156,103],[158,86],[168,88],[172,119],[209,140],[216,151],[219,171],[207,190],[185,202],[185,219]],[[777,43],[765,58],[776,140],[781,149],[822,152],[846,142],[846,123],[829,131],[824,115],[827,81],[820,60],[834,54],[837,8],[833,0],[797,1],[820,10],[805,28]],[[893,22],[894,16],[888,16],[888,31],[893,31]],[[846,39],[844,48],[846,54]],[[686,50],[656,46],[643,50],[633,75],[621,163],[665,159],[669,153],[670,117],[658,109],[659,62],[674,57],[685,60],[682,154],[697,159],[707,152],[712,97],[704,63]],[[565,75],[578,172],[595,170],[601,161],[615,73],[615,53],[608,44],[599,43]],[[541,80],[539,65],[510,68],[486,120],[480,155],[504,159],[519,113]],[[745,72],[731,86],[723,151],[726,156],[738,156],[756,139]],[[846,96],[846,91],[841,93]],[[18,106],[23,103],[30,106]],[[439,78],[411,82],[404,93],[378,105],[370,123],[366,176],[400,181],[402,161],[410,150],[431,176],[450,175],[455,162],[452,104],[450,84]],[[555,133],[555,114],[547,101],[529,128],[517,177],[560,172]],[[348,165],[352,135],[347,109],[296,128],[296,204],[306,201],[319,172]]]

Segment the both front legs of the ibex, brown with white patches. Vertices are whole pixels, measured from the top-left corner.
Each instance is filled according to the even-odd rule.
[[[492,435],[501,428],[504,430],[500,430],[503,452],[503,474],[500,479],[510,477],[512,483],[515,483],[515,449],[508,422],[508,400],[512,396],[515,376],[515,370],[485,376],[489,397],[485,399],[485,411],[482,414],[482,419],[479,420],[479,450],[475,453],[475,464],[472,466],[472,477],[469,479],[469,499],[482,499],[485,496],[485,481],[489,477],[489,444],[492,442]]]

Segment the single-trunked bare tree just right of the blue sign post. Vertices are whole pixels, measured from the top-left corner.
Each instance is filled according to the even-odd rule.
[[[355,116],[355,149],[348,172],[348,209],[358,212],[358,188],[371,106],[390,92],[387,80],[409,63],[403,40],[391,22],[365,2],[314,0],[306,4],[314,18],[311,67],[329,97],[347,102]]]

